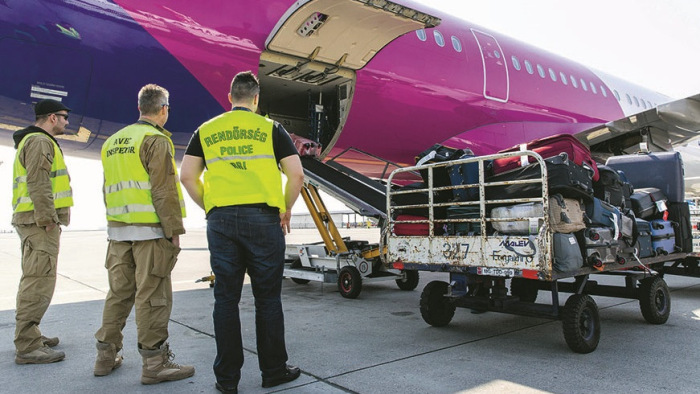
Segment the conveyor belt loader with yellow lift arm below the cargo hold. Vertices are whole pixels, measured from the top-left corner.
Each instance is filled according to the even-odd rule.
[[[332,166],[312,158],[302,158],[302,164],[306,182],[301,196],[322,242],[288,245],[284,276],[298,284],[337,283],[340,295],[345,298],[357,298],[363,283],[377,280],[395,280],[402,290],[415,289],[418,271],[389,268],[382,264],[378,244],[340,235],[317,184],[357,212],[379,217],[384,215],[383,187],[337,164]]]

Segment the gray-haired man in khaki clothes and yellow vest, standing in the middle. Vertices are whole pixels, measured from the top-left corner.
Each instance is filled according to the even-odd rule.
[[[194,367],[172,361],[166,342],[173,301],[170,273],[185,233],[185,205],[175,147],[163,128],[170,112],[168,91],[144,86],[138,108],[139,120],[102,145],[109,293],[95,334],[94,374],[109,375],[121,365],[122,329],[135,305],[141,383],[154,384],[194,375]]]

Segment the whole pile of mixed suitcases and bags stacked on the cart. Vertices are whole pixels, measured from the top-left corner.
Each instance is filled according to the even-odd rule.
[[[544,159],[547,167],[549,223],[553,232],[554,269],[572,272],[584,266],[608,270],[609,265],[692,252],[690,210],[685,201],[683,162],[677,152],[640,153],[610,157],[596,163],[590,150],[567,134],[538,139],[502,152],[530,150]],[[434,146],[417,158],[418,164],[471,157],[469,151]],[[422,170],[424,183],[406,188],[453,186],[433,194],[434,235],[519,235],[534,237],[541,229],[541,202],[505,205],[498,200],[537,198],[542,185],[508,183],[541,178],[540,165],[533,156],[498,158],[485,169],[486,222],[478,219],[479,166],[477,162],[434,167],[432,179]],[[506,183],[504,183],[506,182]],[[490,185],[491,183],[497,183]],[[408,198],[411,201],[406,201]],[[397,205],[426,203],[426,193],[398,194]],[[454,205],[450,206],[450,203]],[[447,207],[444,207],[447,205]],[[399,209],[395,235],[428,235],[426,210]],[[440,219],[446,219],[440,226]],[[411,222],[411,223],[407,223]]]

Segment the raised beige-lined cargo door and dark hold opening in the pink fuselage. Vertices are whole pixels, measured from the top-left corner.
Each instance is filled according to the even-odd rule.
[[[364,67],[395,38],[438,18],[385,0],[297,1],[260,57],[261,110],[290,133],[323,145],[340,136]]]

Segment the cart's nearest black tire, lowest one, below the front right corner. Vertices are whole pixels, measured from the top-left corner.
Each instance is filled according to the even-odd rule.
[[[576,353],[590,353],[600,341],[598,306],[591,296],[574,294],[566,300],[562,313],[564,339]]]

